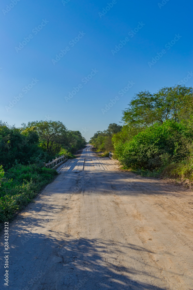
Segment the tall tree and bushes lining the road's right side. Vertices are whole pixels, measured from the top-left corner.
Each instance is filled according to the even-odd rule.
[[[137,93],[123,111],[122,123],[110,124],[117,126],[117,132],[95,133],[91,144],[112,151],[122,168],[137,174],[193,181],[191,87]]]

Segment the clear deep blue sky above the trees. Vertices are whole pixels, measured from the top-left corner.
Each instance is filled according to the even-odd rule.
[[[10,125],[60,120],[89,140],[119,124],[135,93],[192,86],[192,0],[0,7],[0,119]]]

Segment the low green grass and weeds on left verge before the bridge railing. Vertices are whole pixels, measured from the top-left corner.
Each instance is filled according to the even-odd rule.
[[[0,168],[0,222],[12,220],[58,173],[37,165],[15,165],[4,173]]]

